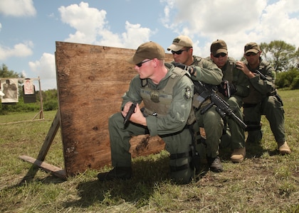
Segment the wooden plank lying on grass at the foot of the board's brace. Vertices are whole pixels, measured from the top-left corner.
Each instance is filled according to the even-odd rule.
[[[56,175],[58,178],[62,178],[63,180],[66,180],[66,173],[65,173],[65,170],[63,170],[62,168],[58,168],[54,165],[45,163],[41,160],[37,160],[35,158],[31,158],[26,155],[21,155],[21,156],[19,156],[19,158],[21,158],[22,160],[25,160],[29,163],[33,163],[33,165],[37,165],[39,168],[46,171],[47,173],[51,173],[53,175]]]

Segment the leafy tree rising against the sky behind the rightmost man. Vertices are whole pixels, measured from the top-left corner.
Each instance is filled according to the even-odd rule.
[[[261,43],[262,57],[270,62],[276,72],[285,72],[298,66],[298,50],[295,45],[283,40],[273,40],[271,43]]]

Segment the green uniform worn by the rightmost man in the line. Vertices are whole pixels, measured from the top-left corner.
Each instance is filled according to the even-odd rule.
[[[247,62],[246,65],[251,72],[256,70],[249,67]],[[262,80],[260,75],[249,79],[250,94],[243,99],[244,121],[248,125],[246,142],[259,143],[261,141],[261,115],[265,115],[276,142],[283,143],[285,141],[284,110],[283,102],[275,88],[276,72],[269,62],[261,60],[261,58],[257,70],[267,80]]]

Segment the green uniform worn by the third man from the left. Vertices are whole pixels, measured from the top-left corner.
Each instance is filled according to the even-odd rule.
[[[211,58],[209,58],[211,60]],[[212,61],[212,60],[211,60]],[[231,97],[226,97],[224,94],[218,93],[233,109],[234,114],[243,121],[243,112],[241,107],[243,106],[243,97],[247,97],[249,94],[249,81],[248,77],[236,68],[236,60],[229,57],[226,65],[221,68],[223,77],[222,80],[229,81],[230,84],[234,84],[236,92],[231,94]],[[221,146],[230,146],[232,149],[245,147],[245,131],[234,119],[226,117],[226,123],[229,127],[227,135],[222,136]]]

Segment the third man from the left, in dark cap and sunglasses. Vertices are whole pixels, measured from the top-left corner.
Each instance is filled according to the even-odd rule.
[[[222,97],[234,110],[234,114],[243,121],[243,97],[249,94],[249,82],[246,75],[236,68],[236,60],[229,57],[227,45],[224,40],[215,40],[211,43],[210,58],[217,67],[222,70],[222,82],[219,85],[219,96]],[[229,144],[233,149],[231,161],[234,163],[241,162],[246,155],[245,148],[245,131],[234,119],[226,117],[226,123],[229,127],[231,137]],[[223,136],[221,142],[224,143]]]

